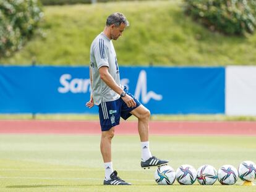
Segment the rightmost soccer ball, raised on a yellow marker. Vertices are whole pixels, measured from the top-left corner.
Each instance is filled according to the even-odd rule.
[[[256,179],[256,165],[252,161],[244,161],[238,167],[238,175],[243,181],[252,182]]]

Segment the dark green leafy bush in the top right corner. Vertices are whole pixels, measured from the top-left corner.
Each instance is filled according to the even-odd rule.
[[[255,0],[185,0],[186,12],[210,30],[227,35],[254,33]]]

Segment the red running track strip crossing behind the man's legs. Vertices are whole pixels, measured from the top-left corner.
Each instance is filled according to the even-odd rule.
[[[0,120],[0,133],[100,134],[98,121]],[[117,134],[138,134],[137,122],[122,121]],[[256,135],[256,122],[150,122],[155,135]]]

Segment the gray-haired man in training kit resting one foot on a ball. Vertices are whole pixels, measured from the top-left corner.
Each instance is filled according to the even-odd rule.
[[[86,106],[91,108],[96,104],[99,107],[100,149],[105,165],[104,185],[131,185],[117,177],[117,172],[113,171],[111,160],[111,140],[116,125],[119,125],[120,117],[126,120],[130,115],[134,115],[138,119],[142,147],[142,168],[168,163],[168,161],[162,161],[151,155],[148,142],[150,111],[127,91],[126,86],[120,85],[117,57],[111,40],[117,40],[128,26],[129,22],[123,14],[109,15],[104,31],[96,36],[90,48],[92,93]]]

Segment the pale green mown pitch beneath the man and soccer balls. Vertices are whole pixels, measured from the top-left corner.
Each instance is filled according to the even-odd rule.
[[[117,135],[113,164],[132,186],[103,186],[99,135],[0,135],[0,191],[256,191],[256,186],[158,186],[155,169],[140,168],[139,136]],[[174,169],[190,164],[216,169],[245,160],[256,162],[255,137],[151,136],[151,151]]]

